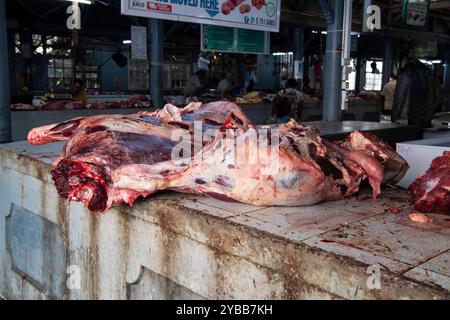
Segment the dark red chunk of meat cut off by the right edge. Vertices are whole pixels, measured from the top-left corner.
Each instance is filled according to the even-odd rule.
[[[415,209],[450,214],[450,152],[433,160],[430,169],[409,187]]]

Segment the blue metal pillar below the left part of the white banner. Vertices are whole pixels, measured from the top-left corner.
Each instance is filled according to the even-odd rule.
[[[164,23],[160,19],[148,19],[151,32],[150,95],[153,105],[164,106],[163,65],[164,65]]]

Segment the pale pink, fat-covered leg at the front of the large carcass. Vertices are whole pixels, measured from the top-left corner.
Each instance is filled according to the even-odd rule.
[[[302,131],[280,136],[271,132],[267,136],[271,145],[261,148],[260,138],[268,132],[271,131],[265,128],[252,129],[236,139],[219,134],[193,159],[183,163],[185,170],[180,167],[169,177],[160,177],[152,165],[132,165],[122,167],[115,180],[121,189],[131,186],[133,190],[153,193],[164,186],[257,206],[313,205],[343,197],[333,178],[326,176],[310,157],[310,140]]]

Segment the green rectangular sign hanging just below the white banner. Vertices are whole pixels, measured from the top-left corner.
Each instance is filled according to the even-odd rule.
[[[208,52],[269,54],[270,33],[202,25],[201,50]]]

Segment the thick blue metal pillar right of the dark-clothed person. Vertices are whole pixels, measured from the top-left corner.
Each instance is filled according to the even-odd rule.
[[[324,62],[323,120],[339,121],[342,90],[342,22],[344,0],[328,1],[333,21],[327,26],[327,48]]]

